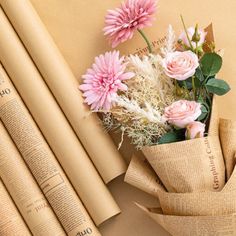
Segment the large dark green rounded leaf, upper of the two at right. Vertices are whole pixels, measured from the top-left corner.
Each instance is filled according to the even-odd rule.
[[[205,76],[216,75],[222,67],[222,57],[216,53],[206,53],[201,61],[202,73]]]

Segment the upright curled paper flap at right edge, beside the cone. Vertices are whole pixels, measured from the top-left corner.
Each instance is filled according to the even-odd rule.
[[[236,153],[236,122],[220,119],[220,141],[225,158],[227,179],[230,178],[235,166]]]

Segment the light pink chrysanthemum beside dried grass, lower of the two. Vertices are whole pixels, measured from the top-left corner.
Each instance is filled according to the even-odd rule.
[[[127,89],[122,81],[131,79],[134,73],[125,72],[126,63],[123,62],[124,57],[120,58],[118,51],[107,52],[96,57],[92,68],[82,76],[84,83],[79,88],[91,110],[110,110],[117,91]]]

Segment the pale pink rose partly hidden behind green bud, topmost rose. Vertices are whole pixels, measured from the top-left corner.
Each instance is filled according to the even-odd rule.
[[[206,39],[206,35],[207,35],[207,33],[204,30],[198,29],[198,34],[200,36],[198,43],[192,42],[192,38],[193,38],[193,35],[195,33],[195,28],[194,27],[190,27],[190,28],[187,29],[187,32],[188,32],[189,39],[191,40],[191,43],[192,43],[192,46],[193,46],[194,49],[196,49],[197,46],[200,47],[200,46],[203,45],[203,43],[205,42],[205,39]],[[189,41],[188,41],[188,38],[187,38],[187,35],[186,35],[185,31],[183,31],[180,34],[179,39],[182,40],[184,45],[190,47],[190,44],[189,44]]]

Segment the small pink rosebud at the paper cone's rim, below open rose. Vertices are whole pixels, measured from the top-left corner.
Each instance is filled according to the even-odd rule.
[[[203,138],[205,128],[206,128],[205,124],[199,121],[194,121],[187,125],[185,136],[187,139]]]

